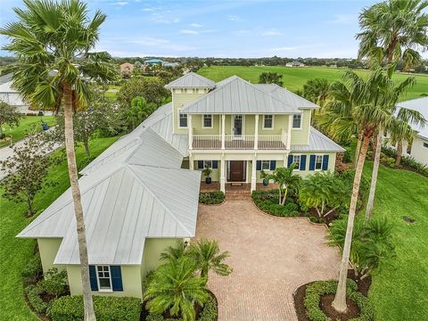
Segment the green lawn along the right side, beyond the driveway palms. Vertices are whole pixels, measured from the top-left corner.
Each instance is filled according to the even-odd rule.
[[[373,162],[364,175],[371,177]],[[428,316],[428,179],[380,166],[374,216],[395,225],[397,258],[373,277],[369,298],[378,321],[426,320]],[[407,223],[403,217],[415,219]]]

